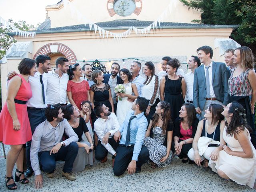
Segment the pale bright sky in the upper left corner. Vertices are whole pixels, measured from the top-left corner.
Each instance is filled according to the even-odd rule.
[[[36,26],[46,18],[45,7],[57,4],[60,0],[0,0],[0,17],[14,22],[25,20]]]

